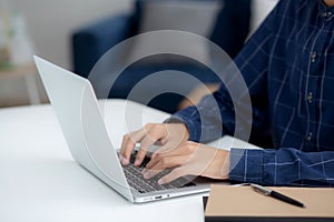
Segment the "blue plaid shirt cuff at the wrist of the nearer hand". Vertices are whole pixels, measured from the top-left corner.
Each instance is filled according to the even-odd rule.
[[[229,180],[247,183],[263,183],[263,151],[230,149]]]

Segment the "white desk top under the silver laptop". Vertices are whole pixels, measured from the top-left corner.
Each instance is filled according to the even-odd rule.
[[[124,122],[125,102],[106,103],[112,143],[146,122],[167,114],[146,109],[143,121]],[[128,102],[127,117],[143,111]],[[79,167],[71,158],[50,105],[0,110],[0,221],[200,221],[200,195],[131,204]]]

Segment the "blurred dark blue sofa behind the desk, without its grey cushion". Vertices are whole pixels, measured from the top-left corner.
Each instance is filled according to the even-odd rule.
[[[224,1],[225,7],[218,13],[210,40],[234,58],[242,49],[249,31],[250,0],[220,1]],[[87,78],[94,64],[105,52],[117,43],[138,33],[144,2],[144,0],[135,1],[131,13],[107,18],[97,23],[84,27],[72,34],[72,61],[73,71],[77,74]],[[204,64],[187,58],[180,58],[180,61],[183,62],[157,65],[143,65],[143,61],[134,63],[117,79],[111,88],[112,93],[109,93],[109,98],[125,99],[138,81],[151,73],[168,69],[191,74],[204,83],[218,82],[217,77]],[[170,88],[174,88],[170,89],[171,91],[175,88],[184,87],[181,82],[173,80],[170,82]],[[147,85],[145,90],[154,90],[157,87],[159,87],[159,83],[153,83],[151,85]],[[193,85],[193,88],[195,87]],[[190,88],[188,89],[189,91],[191,90]],[[177,110],[177,105],[183,99],[183,95],[176,93],[164,93],[154,98],[148,105],[173,113]],[[144,103],[140,95],[135,100]]]

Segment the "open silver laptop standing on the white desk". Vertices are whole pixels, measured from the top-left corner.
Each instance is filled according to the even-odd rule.
[[[51,104],[73,159],[115,191],[134,203],[157,201],[209,191],[209,183],[185,178],[159,185],[161,174],[145,180],[141,168],[122,167],[110,142],[90,82],[70,71],[35,57]],[[146,161],[147,162],[147,161]],[[168,173],[168,171],[167,171]]]

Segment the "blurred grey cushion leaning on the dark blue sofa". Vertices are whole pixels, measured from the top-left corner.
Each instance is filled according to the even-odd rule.
[[[222,0],[146,0],[141,1],[138,33],[156,30],[179,30],[210,38],[218,12],[222,10]],[[168,38],[168,37],[166,37]],[[139,39],[134,43],[130,59],[137,61],[143,51],[154,49],[155,44],[164,44],[164,39],[153,42],[150,39]],[[168,46],[166,46],[168,47]],[[178,49],[196,54],[202,61],[209,62],[207,44],[195,44],[194,42],[175,42]],[[150,64],[157,63],[181,63],[178,57],[163,54],[146,60]]]

